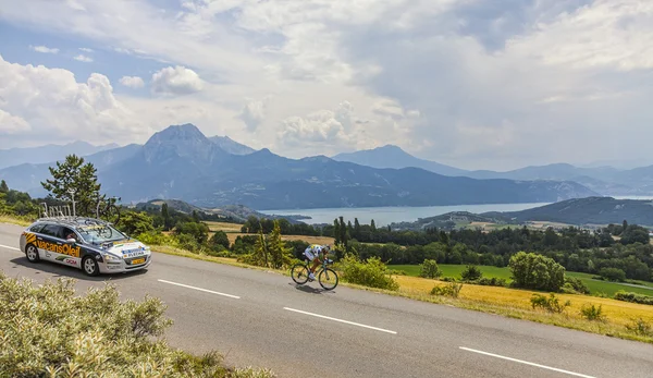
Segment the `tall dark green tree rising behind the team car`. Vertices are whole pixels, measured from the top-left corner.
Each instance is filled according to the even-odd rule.
[[[76,212],[84,214],[86,209],[95,208],[98,196],[101,200],[106,197],[99,195],[101,184],[98,183],[97,170],[93,163],[84,163],[84,158],[69,155],[57,167],[49,167],[52,179],[41,182],[42,187],[50,192],[49,197],[58,200],[71,202],[69,190],[75,191]],[[90,215],[90,214],[86,214]]]

